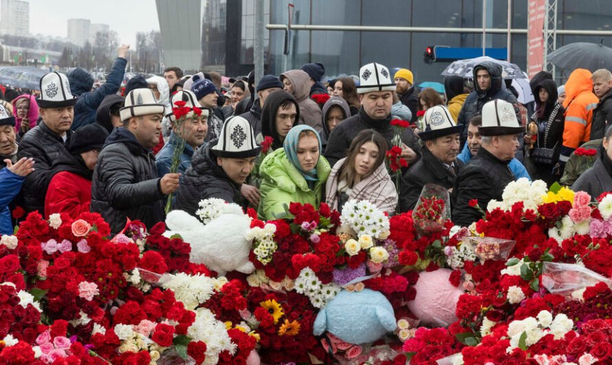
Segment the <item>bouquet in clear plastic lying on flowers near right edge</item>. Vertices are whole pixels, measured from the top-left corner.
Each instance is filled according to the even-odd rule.
[[[571,298],[572,293],[580,293],[580,291],[599,282],[612,286],[612,280],[579,264],[544,263],[542,285],[550,293]]]

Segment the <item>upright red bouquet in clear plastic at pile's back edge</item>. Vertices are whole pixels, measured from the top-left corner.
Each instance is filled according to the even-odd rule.
[[[448,189],[427,184],[421,191],[413,211],[415,229],[421,236],[444,230],[444,223],[450,218],[450,197]]]

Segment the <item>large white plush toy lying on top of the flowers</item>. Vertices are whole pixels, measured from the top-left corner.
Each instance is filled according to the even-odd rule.
[[[164,236],[178,233],[191,245],[190,262],[205,264],[219,275],[228,271],[252,273],[255,267],[249,261],[251,242],[246,239],[251,219],[236,204],[223,204],[219,215],[203,225],[197,218],[182,210],[166,216],[169,231]]]

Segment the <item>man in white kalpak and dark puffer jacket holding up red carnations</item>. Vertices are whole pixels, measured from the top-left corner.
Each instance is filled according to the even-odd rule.
[[[162,199],[179,187],[179,174],[157,178],[151,152],[159,142],[165,108],[152,90],[132,90],[120,110],[123,127],[113,129],[100,152],[91,184],[91,211],[105,218],[113,234],[128,218],[147,228],[164,220]]]

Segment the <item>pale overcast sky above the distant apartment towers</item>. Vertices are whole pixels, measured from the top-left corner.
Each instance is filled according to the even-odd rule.
[[[120,43],[135,47],[136,32],[160,30],[155,0],[30,0],[30,32],[67,36],[67,19],[108,24]]]

